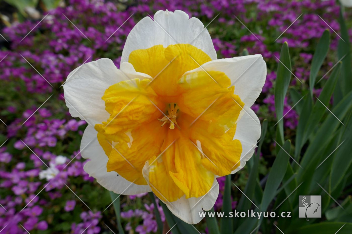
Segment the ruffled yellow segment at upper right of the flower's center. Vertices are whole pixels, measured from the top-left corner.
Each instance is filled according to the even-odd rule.
[[[221,136],[236,123],[244,103],[234,95],[234,86],[225,73],[219,71],[191,72],[178,84],[182,95],[178,106],[195,119],[210,122],[208,131]]]

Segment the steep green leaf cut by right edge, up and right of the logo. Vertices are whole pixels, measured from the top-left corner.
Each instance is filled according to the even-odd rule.
[[[352,113],[347,119],[344,133],[341,137],[339,148],[335,152],[334,161],[331,168],[330,187],[334,190],[347,173],[348,167],[352,163],[351,145],[352,145]],[[342,143],[343,142],[343,143]]]

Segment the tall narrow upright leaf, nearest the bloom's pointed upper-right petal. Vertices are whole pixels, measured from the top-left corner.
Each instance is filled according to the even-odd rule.
[[[281,61],[281,62],[280,62]],[[276,119],[279,121],[277,124],[279,137],[276,140],[283,144],[284,142],[284,127],[283,127],[283,110],[284,99],[291,79],[291,59],[288,50],[288,44],[285,42],[282,45],[280,53],[280,61],[277,66],[277,75],[275,82],[275,111]]]

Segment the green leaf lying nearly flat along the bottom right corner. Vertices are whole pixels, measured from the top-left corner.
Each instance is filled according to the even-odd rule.
[[[300,234],[336,233],[337,231],[339,234],[351,234],[352,223],[344,223],[344,222],[315,223],[315,224],[303,226],[297,229],[291,229],[290,233],[300,233]]]

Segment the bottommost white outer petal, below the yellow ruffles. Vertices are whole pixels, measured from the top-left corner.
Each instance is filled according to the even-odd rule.
[[[219,184],[214,177],[214,183],[207,194],[201,197],[191,197],[186,199],[185,195],[180,199],[171,202],[164,202],[171,210],[172,214],[186,223],[194,224],[199,223],[203,218],[200,217],[199,212],[203,210],[210,210],[213,208],[216,199],[219,195]]]

